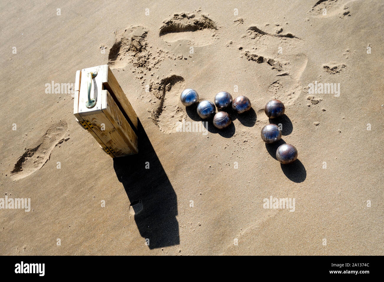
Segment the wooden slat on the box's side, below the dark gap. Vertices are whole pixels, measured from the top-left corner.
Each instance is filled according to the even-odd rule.
[[[105,91],[105,94],[103,93],[103,97],[105,95],[105,97],[107,98],[106,102],[104,102],[104,99],[101,102],[104,114],[111,121],[113,126],[119,132],[122,139],[124,139],[124,141],[127,143],[128,147],[132,150],[132,152],[137,153],[138,146],[136,133],[132,130],[131,125],[129,125],[126,118],[121,113],[121,110],[118,108],[109,92],[107,90],[103,91]]]

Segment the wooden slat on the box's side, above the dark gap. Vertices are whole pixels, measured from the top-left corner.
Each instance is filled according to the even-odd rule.
[[[132,108],[131,103],[128,101],[127,96],[125,96],[124,91],[122,91],[119,82],[116,80],[114,74],[108,65],[101,66],[105,69],[108,68],[108,80],[103,81],[105,89],[108,90],[109,94],[113,97],[117,106],[124,110],[128,119],[128,123],[137,130],[137,115],[135,110]]]

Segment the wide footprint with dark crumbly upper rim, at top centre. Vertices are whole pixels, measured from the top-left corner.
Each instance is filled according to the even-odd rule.
[[[216,23],[199,12],[174,14],[163,22],[159,36],[168,43],[187,40],[191,46],[212,44],[217,38]]]

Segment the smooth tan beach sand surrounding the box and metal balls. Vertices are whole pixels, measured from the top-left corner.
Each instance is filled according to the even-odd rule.
[[[0,4],[0,194],[31,199],[0,209],[0,254],[383,254],[384,3],[224,2]],[[71,93],[45,91],[102,64],[139,117],[139,155],[109,158]],[[308,94],[314,81],[339,97]],[[225,131],[176,132],[200,121],[184,88],[252,110]],[[288,167],[260,138],[274,98],[299,152]],[[263,208],[270,196],[295,211]]]

